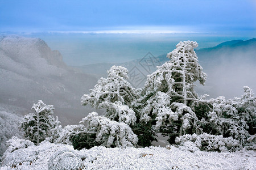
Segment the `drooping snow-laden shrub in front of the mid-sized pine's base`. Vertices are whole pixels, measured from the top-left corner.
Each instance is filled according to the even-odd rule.
[[[129,125],[98,116],[96,112],[89,113],[80,124],[87,125],[88,131],[96,132],[96,142],[101,142],[102,146],[133,147],[137,145],[138,137]]]

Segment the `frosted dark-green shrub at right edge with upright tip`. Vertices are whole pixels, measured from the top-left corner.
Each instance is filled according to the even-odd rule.
[[[225,97],[211,99],[213,111],[208,113],[209,125],[216,134],[238,139],[242,146],[255,141],[248,140],[255,135],[256,97],[245,86],[242,97],[226,100]]]

